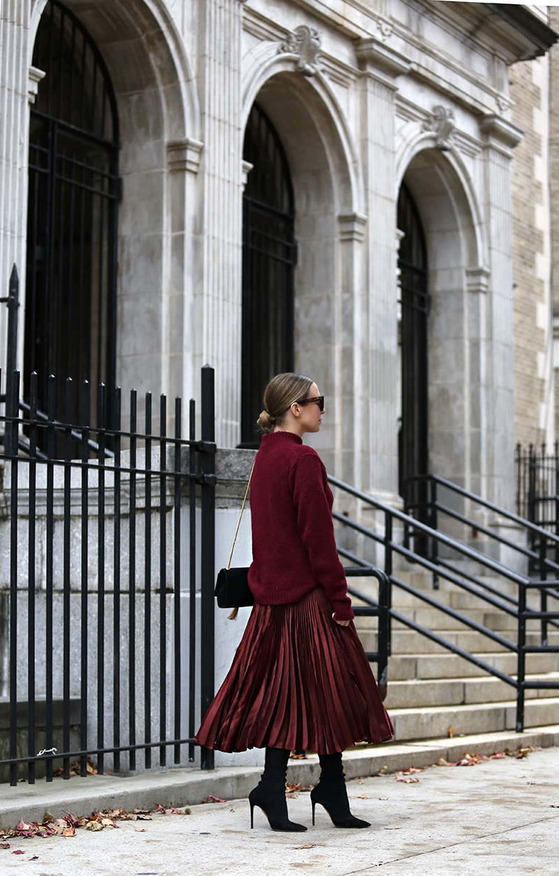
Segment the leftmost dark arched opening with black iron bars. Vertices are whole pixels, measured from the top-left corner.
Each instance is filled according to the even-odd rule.
[[[46,74],[31,109],[25,390],[56,375],[115,382],[118,121],[103,59],[80,21],[49,0],[33,50]],[[63,407],[62,407],[63,410]]]

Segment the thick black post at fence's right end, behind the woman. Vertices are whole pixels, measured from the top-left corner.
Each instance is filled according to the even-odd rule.
[[[216,441],[216,416],[214,398],[214,369],[202,368],[202,442]],[[203,447],[203,444],[202,444]],[[215,554],[216,554],[216,458],[209,449],[203,448],[201,461],[202,480],[202,576],[201,576],[201,717],[209,709],[214,698],[214,634],[215,634]],[[214,752],[201,749],[202,769],[214,768]]]

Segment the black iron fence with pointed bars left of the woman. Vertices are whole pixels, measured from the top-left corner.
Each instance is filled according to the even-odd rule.
[[[94,758],[118,773],[154,766],[154,749],[165,766],[169,747],[192,761],[214,696],[214,371],[200,440],[194,400],[183,437],[178,398],[154,410],[132,390],[124,428],[119,387],[96,388],[92,423],[87,381],[64,382],[62,413],[56,378],[46,412],[29,385],[25,404],[12,369],[0,398],[0,771],[51,781],[61,760],[67,779]]]

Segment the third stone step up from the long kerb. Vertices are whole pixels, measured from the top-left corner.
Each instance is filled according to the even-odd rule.
[[[517,657],[512,652],[478,653],[480,660],[500,669],[507,675],[516,675]],[[531,675],[545,675],[559,671],[559,654],[527,654],[526,671]],[[454,679],[487,677],[484,669],[452,653],[396,654],[388,660],[388,680],[394,682],[409,679]]]

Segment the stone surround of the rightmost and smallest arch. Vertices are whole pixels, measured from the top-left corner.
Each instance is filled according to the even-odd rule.
[[[429,470],[479,492],[485,230],[456,152],[436,149],[431,135],[416,145],[402,156],[397,191],[405,180],[427,241]]]

